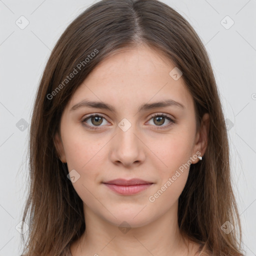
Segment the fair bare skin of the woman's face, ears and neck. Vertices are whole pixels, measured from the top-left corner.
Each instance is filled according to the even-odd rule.
[[[203,116],[196,131],[193,98],[182,76],[174,80],[169,75],[174,67],[146,45],[126,49],[97,65],[66,105],[55,145],[69,172],[75,169],[80,175],[72,185],[84,203],[86,225],[84,234],[71,244],[72,256],[196,255],[198,244],[182,239],[177,223],[178,197],[189,167],[153,202],[148,199],[190,157],[196,163],[196,152],[202,156],[207,144],[209,116]],[[83,99],[106,102],[116,112],[86,106],[70,110]],[[163,99],[184,107],[138,111],[143,103]],[[93,113],[104,118],[83,121]],[[152,117],[155,113],[165,113],[175,122],[157,121]],[[131,124],[126,131],[118,126],[123,118]],[[115,178],[140,178],[153,184],[137,194],[120,195],[102,183]],[[125,233],[118,228],[125,226],[123,221],[130,227]]]

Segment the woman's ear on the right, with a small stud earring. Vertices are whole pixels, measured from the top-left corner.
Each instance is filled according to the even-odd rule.
[[[196,133],[193,155],[203,156],[207,147],[208,134],[209,134],[209,114],[205,113],[202,117],[200,129]],[[192,157],[192,163],[199,161],[198,157]]]

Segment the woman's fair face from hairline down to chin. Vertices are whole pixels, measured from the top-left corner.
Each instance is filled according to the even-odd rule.
[[[189,166],[204,148],[192,96],[182,76],[169,74],[174,67],[147,46],[119,52],[66,105],[55,141],[85,212],[138,227],[177,210]],[[106,184],[133,178],[148,184]]]

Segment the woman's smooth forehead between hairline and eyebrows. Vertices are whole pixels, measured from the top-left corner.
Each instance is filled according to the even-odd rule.
[[[175,80],[175,65],[147,45],[115,52],[104,58],[73,94],[70,104],[84,98],[102,100],[117,107],[172,99],[185,108],[193,104],[182,76]],[[174,69],[175,70],[175,69]]]

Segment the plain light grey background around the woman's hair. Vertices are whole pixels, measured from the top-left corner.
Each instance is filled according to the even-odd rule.
[[[18,226],[28,172],[26,125],[39,79],[61,33],[92,2],[0,0],[0,256],[20,252]],[[163,2],[183,15],[206,45],[229,129],[242,245],[246,255],[256,255],[256,0]],[[26,20],[29,24],[21,29]]]

